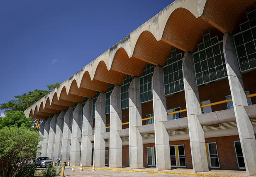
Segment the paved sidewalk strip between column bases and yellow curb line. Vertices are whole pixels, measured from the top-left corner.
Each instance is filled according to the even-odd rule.
[[[80,169],[80,166],[75,168]],[[83,169],[91,170],[92,167],[83,167]],[[129,167],[122,167],[122,168],[102,167],[102,168],[95,168],[95,170],[106,170],[106,171],[112,170],[112,171],[121,171],[121,172],[146,172],[146,173],[161,173],[161,174],[171,174],[171,175],[203,176],[203,177],[246,177],[247,176],[245,170],[210,169],[209,172],[197,172],[197,173],[194,173],[193,169],[191,168],[173,168],[172,170],[156,171],[156,168],[154,167],[142,168],[142,169],[136,169],[136,170],[131,170]],[[256,176],[251,176],[251,177],[256,177]]]

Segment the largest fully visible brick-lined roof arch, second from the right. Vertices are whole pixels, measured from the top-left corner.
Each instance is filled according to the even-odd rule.
[[[190,11],[178,8],[170,15],[162,40],[183,51],[195,52],[202,42],[202,31],[213,28],[202,18],[196,18]]]

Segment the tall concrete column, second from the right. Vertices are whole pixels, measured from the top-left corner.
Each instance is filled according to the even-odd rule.
[[[193,55],[186,52],[182,64],[188,130],[194,172],[209,171],[205,149],[205,134],[197,115],[201,114],[199,92],[195,80]]]

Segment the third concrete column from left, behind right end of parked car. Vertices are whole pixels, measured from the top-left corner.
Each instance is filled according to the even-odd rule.
[[[54,143],[55,143],[56,123],[57,123],[58,116],[59,114],[55,114],[51,119],[50,131],[49,131],[47,157],[49,157],[52,160],[56,160],[54,159]]]

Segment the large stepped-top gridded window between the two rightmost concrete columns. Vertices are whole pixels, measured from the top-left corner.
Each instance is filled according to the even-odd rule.
[[[198,52],[193,53],[197,85],[210,83],[227,77],[223,54],[223,41],[217,36],[210,38],[210,33],[203,36]]]

